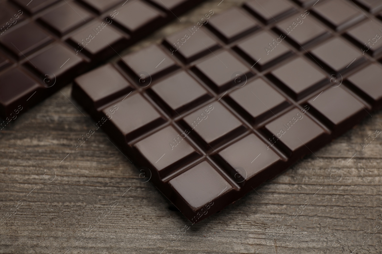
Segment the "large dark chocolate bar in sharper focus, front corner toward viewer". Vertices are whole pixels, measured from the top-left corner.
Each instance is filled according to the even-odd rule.
[[[211,12],[75,79],[72,96],[193,223],[382,107],[377,18],[296,2]]]

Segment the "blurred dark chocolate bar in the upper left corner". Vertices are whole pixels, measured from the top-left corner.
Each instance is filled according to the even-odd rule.
[[[24,98],[29,94],[28,82],[15,86],[0,83],[0,117],[9,118],[8,112],[17,110],[19,105],[25,112],[74,77],[200,2],[202,0],[2,1],[0,79],[8,80],[21,72],[40,86],[33,91],[33,99],[29,99]]]

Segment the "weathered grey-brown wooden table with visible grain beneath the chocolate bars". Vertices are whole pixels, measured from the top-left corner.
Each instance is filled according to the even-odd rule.
[[[241,4],[219,2],[124,53]],[[0,131],[1,253],[381,253],[382,137],[360,143],[382,128],[382,112],[192,225],[101,129],[76,150],[94,121],[70,92]]]

